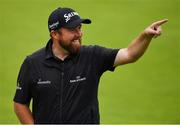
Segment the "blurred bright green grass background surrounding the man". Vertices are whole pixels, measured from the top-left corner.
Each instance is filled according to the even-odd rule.
[[[126,47],[153,21],[169,19],[140,60],[101,78],[101,123],[180,123],[180,0],[0,0],[0,123],[19,123],[12,101],[19,68],[45,46],[47,18],[59,6],[92,19],[83,44],[109,48]]]

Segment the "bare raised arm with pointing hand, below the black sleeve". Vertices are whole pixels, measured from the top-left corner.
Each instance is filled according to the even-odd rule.
[[[114,66],[132,63],[138,60],[148,48],[151,39],[161,35],[161,25],[167,21],[167,19],[164,19],[154,22],[140,33],[127,48],[120,49],[116,56]]]

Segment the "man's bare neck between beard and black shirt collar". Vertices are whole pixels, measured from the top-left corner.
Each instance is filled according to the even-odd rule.
[[[58,41],[53,41],[52,51],[53,51],[54,56],[56,56],[57,58],[61,60],[64,60],[69,55],[69,52],[65,50],[64,48],[62,48],[59,45]]]

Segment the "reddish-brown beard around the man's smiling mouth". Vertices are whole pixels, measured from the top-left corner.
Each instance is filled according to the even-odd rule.
[[[70,54],[77,54],[80,51],[81,47],[81,38],[80,39],[73,39],[70,42],[67,41],[60,41],[59,45],[67,50]]]

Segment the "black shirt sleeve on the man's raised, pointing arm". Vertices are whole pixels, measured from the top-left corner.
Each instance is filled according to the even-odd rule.
[[[100,73],[107,70],[114,71],[115,67],[113,65],[118,51],[119,49],[95,46],[93,57],[95,58],[95,65]]]

